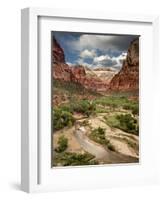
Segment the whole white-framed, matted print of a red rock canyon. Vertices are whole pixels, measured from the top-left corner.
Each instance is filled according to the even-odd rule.
[[[23,9],[22,190],[157,183],[157,55],[157,16]]]

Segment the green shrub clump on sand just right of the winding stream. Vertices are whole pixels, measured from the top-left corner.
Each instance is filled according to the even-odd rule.
[[[89,137],[91,140],[94,140],[95,142],[97,142],[99,144],[105,145],[109,150],[115,151],[114,146],[105,137],[105,129],[104,128],[98,127],[96,129],[92,130]]]

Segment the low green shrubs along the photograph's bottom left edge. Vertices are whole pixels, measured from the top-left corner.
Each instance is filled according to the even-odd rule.
[[[63,152],[56,153],[53,160],[54,166],[79,166],[79,165],[95,165],[97,161],[92,160],[95,157],[90,153],[72,153]]]

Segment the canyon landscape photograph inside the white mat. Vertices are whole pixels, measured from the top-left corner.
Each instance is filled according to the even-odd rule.
[[[140,35],[51,31],[51,166],[139,163]]]

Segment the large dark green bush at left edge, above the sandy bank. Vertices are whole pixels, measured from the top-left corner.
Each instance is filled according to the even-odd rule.
[[[53,130],[59,130],[66,126],[72,126],[75,122],[72,114],[59,108],[53,110]]]

